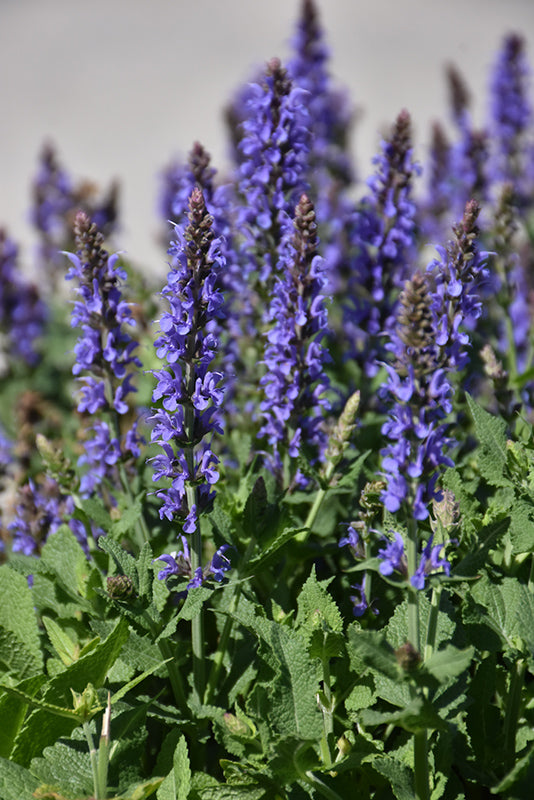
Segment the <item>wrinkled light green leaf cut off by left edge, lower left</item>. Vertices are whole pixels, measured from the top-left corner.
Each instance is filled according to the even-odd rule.
[[[17,680],[42,671],[43,657],[28,582],[9,566],[0,567],[0,667]]]

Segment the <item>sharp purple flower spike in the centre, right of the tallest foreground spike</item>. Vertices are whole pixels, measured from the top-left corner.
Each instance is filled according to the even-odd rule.
[[[297,458],[301,442],[312,448],[312,459],[327,446],[323,411],[329,407],[325,393],[329,382],[324,371],[328,352],[321,341],[328,317],[323,288],[324,261],[317,255],[315,211],[303,194],[295,209],[294,224],[286,224],[280,247],[268,319],[264,364],[260,380],[264,399],[260,403],[266,436],[274,448],[277,469],[287,450]]]

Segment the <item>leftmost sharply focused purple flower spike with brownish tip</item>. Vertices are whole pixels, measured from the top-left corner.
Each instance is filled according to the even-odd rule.
[[[139,455],[142,441],[138,421],[123,430],[120,417],[129,411],[128,396],[135,391],[132,372],[141,366],[135,355],[137,342],[128,328],[134,323],[132,309],[122,296],[126,273],[117,266],[118,255],[103,248],[103,237],[84,212],[75,222],[77,254],[66,253],[71,262],[68,280],[76,280],[71,325],[80,330],[74,347],[72,372],[80,383],[78,411],[97,419],[85,442],[79,463],[88,470],[81,490],[91,494],[105,478],[114,478],[115,465]]]

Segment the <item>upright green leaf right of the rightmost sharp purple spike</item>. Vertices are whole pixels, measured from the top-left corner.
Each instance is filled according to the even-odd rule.
[[[469,394],[466,397],[480,442],[477,450],[480,472],[492,486],[509,486],[511,481],[505,473],[506,422],[488,414]]]

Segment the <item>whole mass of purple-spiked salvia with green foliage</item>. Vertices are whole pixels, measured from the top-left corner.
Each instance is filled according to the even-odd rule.
[[[329,58],[304,0],[161,269],[50,143],[0,230],[1,800],[532,794],[525,42],[357,169]]]

